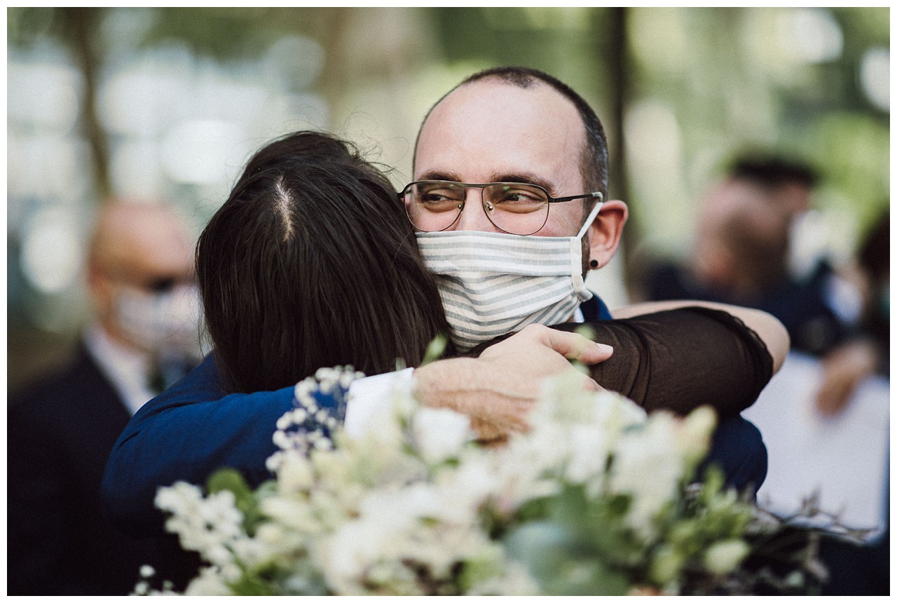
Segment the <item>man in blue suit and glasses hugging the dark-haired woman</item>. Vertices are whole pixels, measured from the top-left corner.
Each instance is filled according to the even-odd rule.
[[[568,254],[567,276],[560,279],[562,293],[558,299],[546,301],[549,313],[536,309],[524,317],[508,318],[502,328],[523,330],[488,348],[479,358],[443,360],[414,370],[416,389],[425,404],[459,408],[489,404],[495,399],[531,402],[544,376],[569,369],[564,357],[592,364],[609,356],[606,350],[587,344],[578,336],[534,324],[548,322],[546,316],[552,318],[549,324],[554,319],[563,322],[578,312],[586,319],[597,319],[599,314],[609,317],[603,304],[584,291],[579,268],[606,264],[614,255],[626,218],[626,206],[620,201],[595,203],[595,199],[606,195],[606,144],[600,122],[575,93],[558,92],[555,84],[546,83],[547,77],[537,72],[512,73],[509,78],[486,74],[480,80],[462,83],[437,103],[422,126],[415,154],[415,180],[479,183],[476,187],[461,187],[466,197],[456,202],[459,207],[455,222],[440,230],[454,229],[468,235],[499,234],[499,226],[493,220],[506,229],[517,230],[501,222],[497,214],[492,219],[485,214],[491,211],[493,197],[481,185],[492,182],[523,183],[528,186],[528,192],[541,194],[538,193],[541,189],[533,186],[536,185],[552,197],[572,196],[588,201],[583,204],[570,199],[570,202],[553,204],[544,224],[535,231],[521,232],[527,235],[536,232],[536,237],[519,237],[530,242],[548,240],[546,236],[560,238]],[[563,84],[560,86],[569,91]],[[589,133],[588,140],[584,130]],[[410,190],[414,198],[417,189]],[[451,190],[457,192],[458,187],[453,185]],[[406,188],[406,202],[410,202],[408,191]],[[444,200],[444,192],[428,188],[428,199]],[[513,192],[513,200],[521,202],[522,193],[518,189]],[[475,196],[480,194],[485,196],[483,204],[466,203],[470,199],[479,201]],[[579,231],[583,231],[581,236]],[[579,258],[575,270],[570,269],[573,254]],[[579,301],[583,300],[591,303],[578,310]],[[447,314],[451,315],[454,310],[447,308]],[[456,319],[453,327],[456,331],[465,328],[478,314],[482,312],[468,312],[467,320]],[[475,330],[478,331],[475,337],[483,338],[483,329]],[[466,342],[465,347],[470,347],[470,343],[473,342]],[[396,378],[400,377],[395,373],[379,375],[365,380],[363,387],[387,388],[384,384]],[[189,380],[153,400],[128,426],[109,459],[104,481],[106,501],[122,524],[136,530],[154,529],[159,523],[159,513],[152,511],[150,505],[155,489],[175,479],[202,483],[209,472],[223,466],[239,468],[252,483],[266,478],[264,459],[274,450],[270,441],[271,425],[292,406],[292,388],[221,398],[220,390],[216,393],[216,379],[213,365],[207,361]],[[356,399],[347,412],[347,429],[353,422],[353,408],[361,407],[354,386],[353,396]],[[214,423],[215,429],[223,430],[216,434],[215,441],[204,438],[195,446],[185,446],[179,450],[179,458],[170,462],[153,458],[151,442],[176,437],[172,433],[187,434],[193,426],[208,428],[206,417],[214,420],[222,416],[228,420]],[[755,430],[753,434],[762,449],[759,434]],[[759,473],[764,474],[765,450],[755,451],[762,456]],[[762,481],[757,470],[759,465],[746,471],[745,484]],[[149,468],[140,475],[129,473],[128,468],[135,466]]]

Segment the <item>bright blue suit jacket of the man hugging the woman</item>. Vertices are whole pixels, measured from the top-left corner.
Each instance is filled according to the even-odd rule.
[[[587,320],[610,319],[603,301],[582,305]],[[156,490],[183,480],[204,485],[218,468],[231,467],[258,485],[271,477],[266,459],[276,447],[274,424],[291,409],[293,388],[224,395],[212,354],[170,389],[147,402],[118,438],[103,476],[106,511],[135,535],[161,533],[163,516],[153,506]],[[321,406],[333,406],[320,398]],[[760,432],[740,416],[721,422],[710,459],[727,483],[759,487],[766,476]]]

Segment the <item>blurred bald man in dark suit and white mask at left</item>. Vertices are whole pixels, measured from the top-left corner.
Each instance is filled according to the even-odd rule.
[[[100,210],[87,260],[95,319],[62,371],[8,407],[8,590],[126,595],[153,544],[100,511],[109,450],[146,401],[199,361],[193,246],[165,205]]]

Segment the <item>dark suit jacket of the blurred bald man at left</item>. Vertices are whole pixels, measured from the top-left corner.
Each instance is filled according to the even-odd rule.
[[[100,512],[109,450],[131,415],[83,344],[65,370],[10,401],[7,594],[126,595],[151,541]]]

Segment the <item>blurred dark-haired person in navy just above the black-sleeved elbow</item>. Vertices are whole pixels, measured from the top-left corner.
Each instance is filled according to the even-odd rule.
[[[816,179],[799,163],[737,160],[703,200],[692,256],[684,265],[650,268],[644,295],[765,310],[788,329],[792,349],[829,352],[849,335],[857,293],[835,275],[823,249],[799,242],[819,238],[805,219]]]

